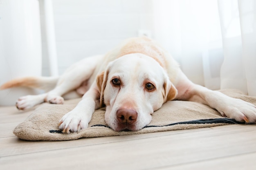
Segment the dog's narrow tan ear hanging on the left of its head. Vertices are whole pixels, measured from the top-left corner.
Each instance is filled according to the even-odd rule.
[[[103,107],[103,100],[104,100],[103,93],[106,88],[107,80],[108,80],[108,70],[103,71],[101,74],[97,75],[96,83],[99,89],[99,93],[101,94],[101,97],[99,99],[99,107]]]

